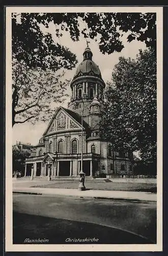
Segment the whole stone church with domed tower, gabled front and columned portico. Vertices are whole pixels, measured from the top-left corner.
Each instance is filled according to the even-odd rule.
[[[114,151],[100,137],[105,83],[92,57],[87,47],[70,84],[68,108],[60,106],[50,120],[36,156],[25,160],[25,176],[77,177],[81,167],[87,177],[132,174],[132,153]]]

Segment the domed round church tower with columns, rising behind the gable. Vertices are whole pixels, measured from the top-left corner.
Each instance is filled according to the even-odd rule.
[[[81,116],[91,128],[101,120],[104,106],[103,90],[105,83],[89,47],[83,52],[83,61],[79,64],[71,81],[71,101],[68,109]],[[96,105],[95,105],[96,103]],[[99,109],[99,111],[98,111]]]

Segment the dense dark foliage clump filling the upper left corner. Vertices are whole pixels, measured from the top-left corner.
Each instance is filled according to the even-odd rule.
[[[12,14],[12,57],[24,60],[31,68],[54,71],[74,68],[76,55],[55,43],[50,33],[42,32],[40,23],[43,23],[43,18],[44,15],[39,13]],[[45,27],[48,28],[48,23]]]

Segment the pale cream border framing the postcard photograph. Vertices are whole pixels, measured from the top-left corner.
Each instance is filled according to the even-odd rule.
[[[157,244],[12,244],[12,12],[156,12],[157,17]],[[6,7],[6,251],[162,251],[162,7]]]

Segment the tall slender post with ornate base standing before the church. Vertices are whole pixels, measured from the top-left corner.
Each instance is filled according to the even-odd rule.
[[[85,93],[83,93],[83,97],[85,97]],[[82,99],[81,99],[82,100]],[[79,173],[79,190],[86,190],[85,187],[85,173],[83,173],[83,111],[85,108],[84,102],[83,103],[83,109],[81,112],[81,166],[80,166],[80,173]]]

